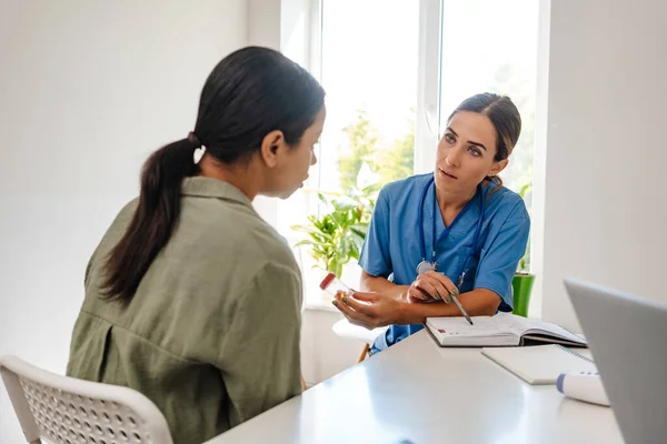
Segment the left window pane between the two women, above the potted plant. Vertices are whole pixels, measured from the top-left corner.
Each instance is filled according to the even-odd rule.
[[[327,122],[318,165],[303,190],[280,211],[280,229],[325,211],[328,199],[375,183],[374,190],[414,174],[419,2],[405,0],[321,0],[320,81],[327,91]],[[354,192],[352,192],[354,193]],[[301,211],[299,211],[301,210]],[[315,265],[300,252],[305,271]],[[357,285],[360,269],[351,261],[344,279]],[[306,279],[308,280],[306,273]],[[317,292],[317,273],[306,283]]]

